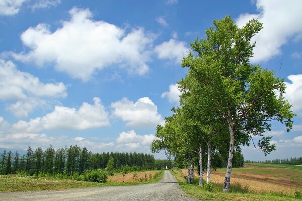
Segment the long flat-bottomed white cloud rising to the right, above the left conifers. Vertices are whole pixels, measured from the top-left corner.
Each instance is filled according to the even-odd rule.
[[[108,114],[100,98],[95,97],[93,101],[94,105],[83,102],[78,110],[55,106],[53,112],[31,119],[29,122],[19,121],[12,125],[12,129],[17,132],[37,133],[52,129],[84,130],[108,126],[110,124]]]

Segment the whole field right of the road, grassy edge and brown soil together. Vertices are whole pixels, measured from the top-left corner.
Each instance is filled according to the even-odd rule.
[[[294,193],[302,190],[302,167],[294,165],[247,163],[243,168],[232,168],[231,193],[222,193],[225,169],[212,171],[211,193],[185,184],[181,177],[187,176],[187,170],[181,175],[174,173],[187,193],[204,200],[296,200]],[[197,184],[199,176],[194,176]]]

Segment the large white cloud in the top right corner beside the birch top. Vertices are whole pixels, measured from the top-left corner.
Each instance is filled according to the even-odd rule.
[[[252,62],[266,61],[281,54],[281,46],[302,33],[302,24],[297,23],[302,19],[300,0],[257,0],[256,6],[259,14],[241,14],[236,20],[240,27],[252,18],[263,23],[263,30],[252,39],[257,42]]]

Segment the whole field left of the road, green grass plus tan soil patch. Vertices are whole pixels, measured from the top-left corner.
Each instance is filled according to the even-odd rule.
[[[149,175],[152,174],[153,176],[156,172],[160,173],[159,176],[156,179],[150,180]],[[145,174],[147,174],[147,181],[145,181]],[[67,188],[135,185],[142,183],[157,182],[161,179],[162,175],[162,171],[137,172],[137,177],[135,178],[135,180],[133,180],[133,173],[128,173],[125,175],[125,182],[122,182],[122,175],[118,174],[114,176],[109,176],[107,183],[93,183],[86,181],[75,181],[70,179],[57,179],[22,175],[0,175],[0,192],[61,190]]]

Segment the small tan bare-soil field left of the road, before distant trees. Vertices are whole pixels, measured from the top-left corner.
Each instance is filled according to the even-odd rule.
[[[134,172],[130,172],[125,175],[124,182],[139,181],[140,178],[143,178],[143,181],[145,181],[145,175],[147,175],[147,180],[150,180],[150,175],[153,177],[153,175],[157,172],[160,172],[160,171],[136,172],[137,173],[136,178],[133,178]],[[121,183],[121,182],[123,182],[123,175],[117,174],[117,175],[113,175],[113,176],[108,176],[108,181],[114,181],[114,182]]]

